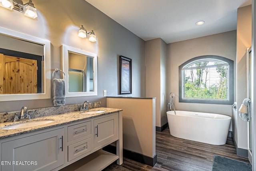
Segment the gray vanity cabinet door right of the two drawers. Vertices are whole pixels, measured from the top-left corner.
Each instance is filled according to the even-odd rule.
[[[118,115],[94,120],[94,149],[100,149],[118,139]]]

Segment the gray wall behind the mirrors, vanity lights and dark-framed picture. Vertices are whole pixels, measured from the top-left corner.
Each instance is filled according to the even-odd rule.
[[[103,90],[108,96],[118,95],[119,55],[132,59],[132,95],[145,96],[145,42],[84,0],[33,0],[38,18],[23,16],[15,10],[0,10],[1,27],[51,41],[51,70],[62,69],[62,44],[98,54],[98,95],[66,98],[66,105],[85,100],[101,101],[106,106]],[[10,22],[12,21],[12,22]],[[94,30],[97,42],[77,36],[81,25]],[[50,86],[50,85],[46,85]],[[50,107],[51,99],[3,101],[0,112]]]

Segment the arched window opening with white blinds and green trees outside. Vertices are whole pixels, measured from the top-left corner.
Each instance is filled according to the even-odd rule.
[[[183,70],[183,80],[183,98],[228,99],[227,63],[197,62]]]

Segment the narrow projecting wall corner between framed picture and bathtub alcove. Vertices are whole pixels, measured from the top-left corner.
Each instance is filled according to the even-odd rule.
[[[156,126],[167,123],[166,117],[166,51],[160,38],[145,43],[146,97],[156,97]]]

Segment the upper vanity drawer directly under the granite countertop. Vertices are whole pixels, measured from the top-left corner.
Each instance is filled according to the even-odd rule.
[[[69,126],[68,142],[90,135],[91,133],[91,121]]]

